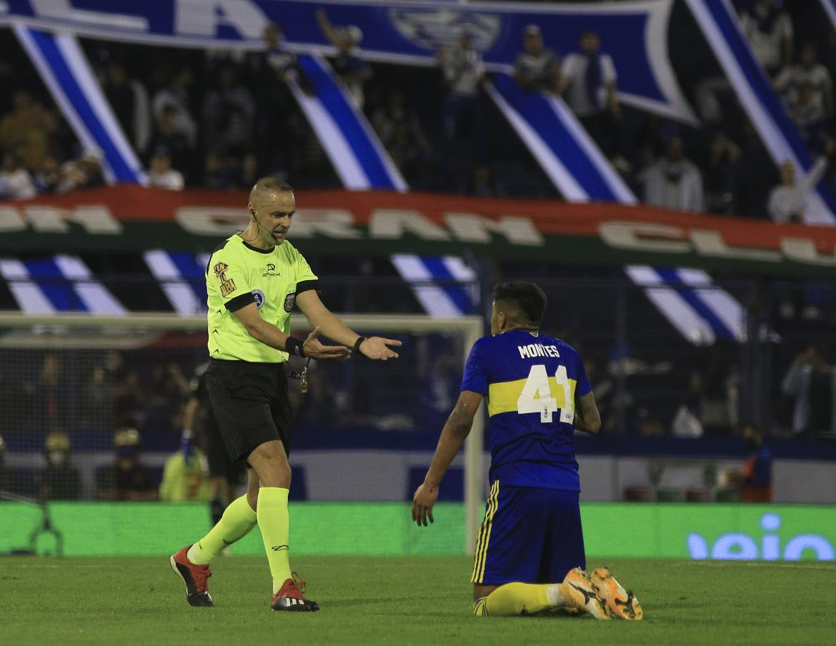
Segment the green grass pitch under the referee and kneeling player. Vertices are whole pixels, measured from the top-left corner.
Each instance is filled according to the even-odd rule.
[[[215,608],[191,608],[167,559],[0,558],[8,644],[827,644],[836,564],[590,559],[634,588],[643,622],[475,618],[469,559],[298,557],[319,613],[269,609],[267,562],[219,558]]]

